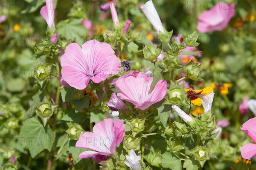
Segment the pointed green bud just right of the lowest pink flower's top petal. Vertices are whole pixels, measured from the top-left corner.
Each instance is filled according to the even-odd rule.
[[[139,119],[139,118],[133,118],[130,121],[126,121],[126,124],[128,124],[131,127],[132,136],[135,137],[137,134],[143,132],[144,130],[144,124],[145,124],[145,118]]]

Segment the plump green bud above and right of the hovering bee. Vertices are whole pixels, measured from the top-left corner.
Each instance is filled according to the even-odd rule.
[[[143,47],[144,59],[147,61],[152,61],[157,58],[162,52],[162,44],[160,46],[154,46],[153,44],[146,44]]]

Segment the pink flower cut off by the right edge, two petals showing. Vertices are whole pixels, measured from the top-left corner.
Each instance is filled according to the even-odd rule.
[[[249,138],[254,142],[254,144],[245,144],[241,150],[242,157],[250,160],[250,158],[256,156],[256,118],[246,121],[243,127],[241,127],[241,130],[247,133]]]

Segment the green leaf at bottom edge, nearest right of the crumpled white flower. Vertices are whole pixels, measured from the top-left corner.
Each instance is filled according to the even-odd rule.
[[[162,166],[171,168],[172,170],[181,170],[181,160],[176,158],[171,152],[166,152],[162,154]]]

